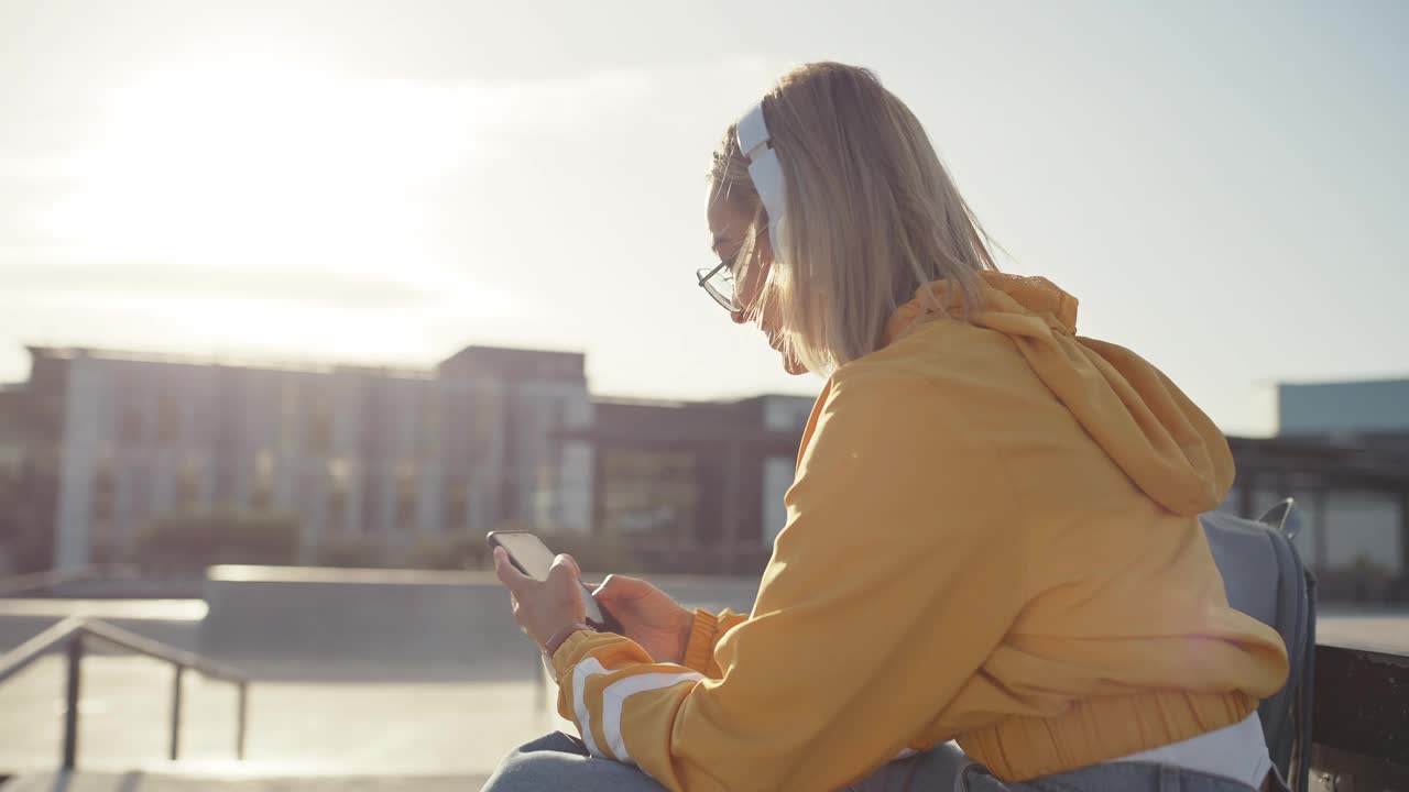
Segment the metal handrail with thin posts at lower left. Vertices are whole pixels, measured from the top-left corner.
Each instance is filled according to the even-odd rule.
[[[80,616],[70,616],[0,655],[0,685],[3,685],[45,654],[56,648],[63,650],[68,658],[66,707],[63,712],[63,769],[73,769],[77,757],[79,686],[82,682],[79,667],[83,662],[86,638],[96,638],[127,651],[169,662],[176,669],[172,678],[172,733],[169,745],[172,760],[176,760],[180,754],[182,679],[186,669],[190,668],[203,676],[235,685],[240,691],[238,712],[235,714],[235,758],[245,758],[245,722],[249,703],[248,675],[237,668],[145,638],[121,627]]]

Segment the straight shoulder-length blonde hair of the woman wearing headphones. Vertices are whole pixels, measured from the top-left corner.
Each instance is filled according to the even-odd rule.
[[[920,121],[871,70],[799,66],[762,107],[783,171],[786,221],[748,311],[757,318],[772,309],[786,352],[823,373],[872,352],[896,307],[931,280],[957,287],[962,317],[982,304],[979,272],[998,269],[986,237]],[[712,178],[713,200],[752,217],[735,275],[747,283],[764,265],[768,211],[734,125]],[[929,307],[947,309],[937,299]]]

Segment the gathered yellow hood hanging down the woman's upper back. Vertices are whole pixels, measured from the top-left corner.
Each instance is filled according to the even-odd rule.
[[[1003,333],[1048,390],[1134,483],[1177,514],[1215,509],[1233,486],[1233,454],[1213,421],[1160,369],[1115,344],[1076,335],[1076,299],[1045,278],[982,272],[969,323]],[[951,283],[921,286],[886,327],[895,341],[954,311]]]

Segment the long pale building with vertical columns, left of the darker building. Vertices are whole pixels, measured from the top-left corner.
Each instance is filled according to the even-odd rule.
[[[583,357],[471,347],[434,371],[209,365],[32,348],[55,567],[104,559],[175,510],[297,514],[302,558],[395,555],[506,521],[586,530]]]

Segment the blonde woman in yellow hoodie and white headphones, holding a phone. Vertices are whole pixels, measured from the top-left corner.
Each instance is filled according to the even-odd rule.
[[[827,375],[751,614],[496,557],[562,734],[486,789],[1281,789],[1271,629],[1198,521],[1223,435],[1076,300],[998,272],[906,106],[813,63],[730,127],[702,285]],[[957,747],[947,741],[957,741]]]

